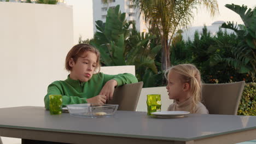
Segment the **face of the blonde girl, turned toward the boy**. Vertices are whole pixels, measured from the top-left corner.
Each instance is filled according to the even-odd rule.
[[[173,70],[170,70],[168,73],[168,84],[166,86],[169,99],[175,99],[178,100],[184,96],[184,85],[180,80],[181,75],[176,73]]]

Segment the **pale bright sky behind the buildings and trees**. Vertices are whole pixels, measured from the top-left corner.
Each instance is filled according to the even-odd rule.
[[[78,43],[79,35],[82,39],[91,39],[94,36],[92,1],[95,0],[65,0],[67,5],[73,6],[73,23],[74,23],[74,44]],[[116,0],[121,1],[121,0]],[[214,21],[234,21],[242,23],[238,14],[224,7],[225,4],[247,5],[249,8],[256,6],[255,0],[218,0],[219,14],[210,17],[210,13],[205,8],[198,8],[195,11],[193,26],[210,26]]]

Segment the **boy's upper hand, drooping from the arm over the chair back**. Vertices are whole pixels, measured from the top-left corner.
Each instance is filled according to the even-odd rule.
[[[107,100],[112,100],[115,87],[117,86],[116,80],[109,80],[101,89],[100,95],[106,95]]]

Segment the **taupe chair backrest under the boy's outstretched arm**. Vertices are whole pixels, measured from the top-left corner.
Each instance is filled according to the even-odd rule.
[[[135,111],[143,82],[130,83],[115,88],[113,99],[108,104],[118,104],[118,110]]]

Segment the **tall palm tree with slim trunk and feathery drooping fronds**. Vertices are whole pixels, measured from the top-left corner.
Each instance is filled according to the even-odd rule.
[[[193,19],[193,10],[202,5],[211,16],[218,13],[217,0],[130,0],[140,10],[150,29],[157,32],[162,45],[162,71],[171,65],[170,45],[174,34],[187,28]]]

